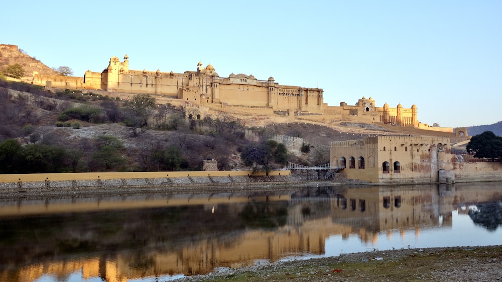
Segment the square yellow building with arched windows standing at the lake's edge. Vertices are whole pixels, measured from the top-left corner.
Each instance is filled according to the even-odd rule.
[[[438,182],[451,170],[450,139],[374,136],[330,144],[331,166],[344,166],[347,179],[371,183]]]

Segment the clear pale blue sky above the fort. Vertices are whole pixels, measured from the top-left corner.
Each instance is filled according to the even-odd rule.
[[[274,77],[324,102],[418,108],[442,127],[502,120],[502,1],[8,1],[0,44],[74,76],[132,70]],[[8,23],[8,25],[7,25]]]

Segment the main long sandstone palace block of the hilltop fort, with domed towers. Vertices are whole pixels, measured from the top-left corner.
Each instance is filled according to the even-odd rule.
[[[87,71],[83,84],[85,89],[165,95],[197,105],[225,104],[313,112],[321,111],[324,105],[320,88],[280,85],[273,77],[258,80],[253,75],[233,73],[229,77],[220,77],[213,66],[203,67],[202,62],[197,64],[196,71],[184,73],[130,70],[128,55],[123,61],[111,57],[108,67],[101,73]]]

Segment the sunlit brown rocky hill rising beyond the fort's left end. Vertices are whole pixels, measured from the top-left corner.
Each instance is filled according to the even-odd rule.
[[[0,44],[0,70],[5,70],[7,66],[14,64],[23,66],[25,69],[25,78],[32,78],[33,72],[45,75],[58,74],[58,72],[44,65],[39,60],[23,53],[17,45]]]

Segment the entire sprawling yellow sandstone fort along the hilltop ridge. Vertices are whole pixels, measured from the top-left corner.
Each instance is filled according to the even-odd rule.
[[[174,73],[130,70],[129,56],[121,61],[111,57],[102,72],[86,71],[83,77],[54,76],[34,73],[32,83],[47,89],[75,89],[130,99],[136,94],[149,94],[159,103],[183,106],[189,118],[226,112],[249,116],[253,125],[274,122],[352,121],[398,126],[408,130],[432,130],[448,137],[466,136],[465,128],[440,128],[418,121],[418,108],[376,106],[372,98],[362,97],[354,105],[340,102],[338,106],[324,103],[323,90],[302,86],[281,85],[273,77],[259,80],[253,75],[233,74],[220,77],[212,65],[197,64],[195,71]],[[189,108],[187,108],[189,107]]]

